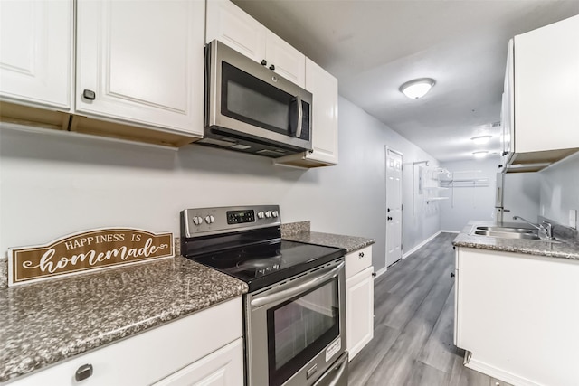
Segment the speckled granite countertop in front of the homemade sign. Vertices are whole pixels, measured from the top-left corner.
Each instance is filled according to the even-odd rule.
[[[242,281],[180,256],[0,288],[0,381],[246,292]]]

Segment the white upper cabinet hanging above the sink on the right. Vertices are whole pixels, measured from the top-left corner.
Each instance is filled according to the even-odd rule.
[[[508,162],[548,165],[579,148],[579,16],[515,36],[506,75]]]

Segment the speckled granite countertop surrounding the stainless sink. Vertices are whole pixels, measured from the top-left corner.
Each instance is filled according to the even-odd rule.
[[[546,256],[558,259],[579,259],[579,240],[573,237],[567,237],[565,234],[557,233],[556,230],[555,239],[560,242],[499,239],[489,236],[470,235],[470,231],[475,225],[496,226],[489,221],[470,221],[469,225],[464,227],[456,239],[452,241],[452,244],[456,247],[524,253],[527,255]],[[521,226],[520,223],[506,223],[504,225],[526,228],[524,225]]]

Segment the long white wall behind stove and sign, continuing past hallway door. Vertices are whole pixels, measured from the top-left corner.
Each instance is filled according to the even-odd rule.
[[[127,226],[174,231],[185,208],[279,203],[283,222],[376,239],[384,267],[384,145],[404,162],[430,155],[339,99],[339,165],[297,170],[203,146],[178,152],[101,139],[0,129],[0,250]],[[404,190],[410,192],[410,169]],[[404,208],[410,208],[404,197]],[[438,213],[404,215],[404,249],[439,229]]]

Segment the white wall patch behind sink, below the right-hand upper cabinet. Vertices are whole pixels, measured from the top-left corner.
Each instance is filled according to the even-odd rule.
[[[579,210],[579,153],[539,172],[540,214],[569,226],[569,210]]]

